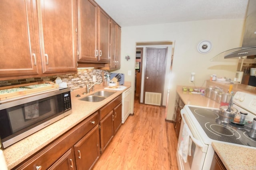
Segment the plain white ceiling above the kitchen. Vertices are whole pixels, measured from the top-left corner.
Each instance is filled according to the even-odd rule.
[[[95,0],[121,27],[244,19],[248,0]]]

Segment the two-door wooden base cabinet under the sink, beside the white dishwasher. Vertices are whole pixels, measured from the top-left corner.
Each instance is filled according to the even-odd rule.
[[[100,113],[100,147],[104,152],[122,124],[122,95],[106,104]]]

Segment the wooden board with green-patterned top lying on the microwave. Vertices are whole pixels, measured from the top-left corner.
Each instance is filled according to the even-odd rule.
[[[26,85],[26,86],[20,85],[20,87],[7,88],[7,89],[0,90],[0,101],[17,98],[20,96],[26,96],[29,94],[44,92],[48,90],[54,90],[54,89],[57,90],[58,88],[59,88],[59,85],[53,84],[53,83],[33,84],[33,85]]]

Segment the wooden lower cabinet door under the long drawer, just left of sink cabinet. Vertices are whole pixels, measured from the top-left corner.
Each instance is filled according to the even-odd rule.
[[[89,170],[94,166],[100,157],[100,134],[98,125],[74,145],[74,150],[78,170]]]

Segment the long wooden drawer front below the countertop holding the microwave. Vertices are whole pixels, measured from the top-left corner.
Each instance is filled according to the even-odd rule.
[[[34,170],[37,166],[42,166],[42,170],[49,168],[56,160],[58,160],[65,152],[72,148],[86,133],[93,127],[98,125],[99,116],[98,111],[86,118],[84,121],[76,125],[74,128],[66,132],[64,135],[50,143],[44,149],[38,151],[36,154],[30,156],[15,170]],[[42,137],[42,140],[47,140]]]

